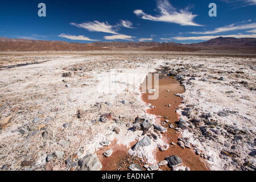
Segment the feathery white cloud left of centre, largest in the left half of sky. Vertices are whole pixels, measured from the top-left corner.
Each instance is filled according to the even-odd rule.
[[[79,28],[85,28],[86,30],[91,32],[105,32],[110,34],[118,34],[114,30],[116,26],[112,26],[108,22],[94,21],[94,22],[81,23],[81,24],[76,24],[76,23],[70,23],[70,24]]]

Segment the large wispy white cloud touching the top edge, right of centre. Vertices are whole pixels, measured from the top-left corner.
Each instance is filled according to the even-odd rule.
[[[157,8],[160,10],[158,16],[146,14],[142,10],[135,10],[134,13],[142,19],[155,22],[177,23],[182,26],[201,26],[193,22],[197,15],[193,15],[188,9],[176,10],[167,0],[158,0]]]

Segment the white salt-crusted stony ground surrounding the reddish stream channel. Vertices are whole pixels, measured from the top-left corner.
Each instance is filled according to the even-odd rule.
[[[185,86],[177,113],[187,121],[187,129],[179,132],[194,144],[191,150],[213,170],[255,169],[255,60],[108,51],[3,53],[1,67],[28,65],[0,71],[0,119],[10,117],[0,130],[0,167],[75,170],[80,159],[106,140],[117,140],[130,150],[129,143],[144,136],[127,130],[126,124],[138,115],[156,119],[146,113],[149,107],[141,100],[139,86],[155,68],[168,67],[180,74]],[[68,72],[71,75],[63,77]],[[108,113],[112,117],[101,122]],[[152,141],[143,156],[141,150],[133,155],[156,164],[156,147]]]

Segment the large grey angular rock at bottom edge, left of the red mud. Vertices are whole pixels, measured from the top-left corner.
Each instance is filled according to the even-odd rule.
[[[88,154],[84,158],[80,159],[79,162],[79,171],[100,171],[102,164],[98,160],[96,154]]]

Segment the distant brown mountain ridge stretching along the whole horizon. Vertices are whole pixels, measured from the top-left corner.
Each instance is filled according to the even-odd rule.
[[[89,51],[134,49],[147,51],[199,51],[207,49],[245,49],[256,51],[255,38],[215,38],[205,42],[180,44],[175,42],[94,42],[69,43],[64,41],[11,39],[0,37],[0,51]]]

